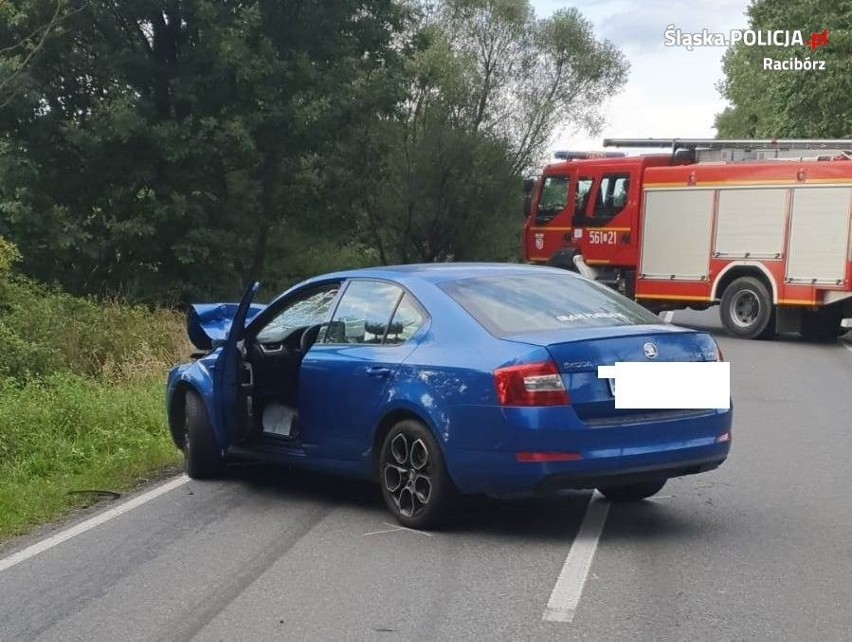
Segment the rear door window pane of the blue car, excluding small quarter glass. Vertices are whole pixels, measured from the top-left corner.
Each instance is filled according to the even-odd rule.
[[[317,343],[380,344],[403,289],[383,281],[352,281]]]

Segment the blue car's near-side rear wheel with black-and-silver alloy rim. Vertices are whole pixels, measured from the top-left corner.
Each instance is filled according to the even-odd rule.
[[[407,528],[438,528],[458,499],[438,442],[429,428],[413,419],[388,431],[378,473],[385,505]]]

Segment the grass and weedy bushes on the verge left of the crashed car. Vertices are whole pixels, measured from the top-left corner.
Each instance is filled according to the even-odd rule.
[[[11,274],[0,238],[0,538],[178,462],[163,372],[183,317],[72,297]]]

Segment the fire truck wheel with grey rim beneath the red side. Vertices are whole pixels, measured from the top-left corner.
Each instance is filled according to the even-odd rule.
[[[735,280],[722,294],[722,325],[741,339],[771,338],[774,307],[767,287],[752,276]]]

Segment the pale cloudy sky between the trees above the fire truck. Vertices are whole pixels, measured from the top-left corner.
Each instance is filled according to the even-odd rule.
[[[539,17],[577,7],[599,38],[612,41],[629,58],[630,75],[604,112],[600,136],[559,132],[554,149],[603,149],[607,137],[712,138],[715,114],[725,101],[716,90],[722,79],[722,47],[666,47],[668,25],[684,32],[728,32],[747,25],[748,0],[531,0]]]

